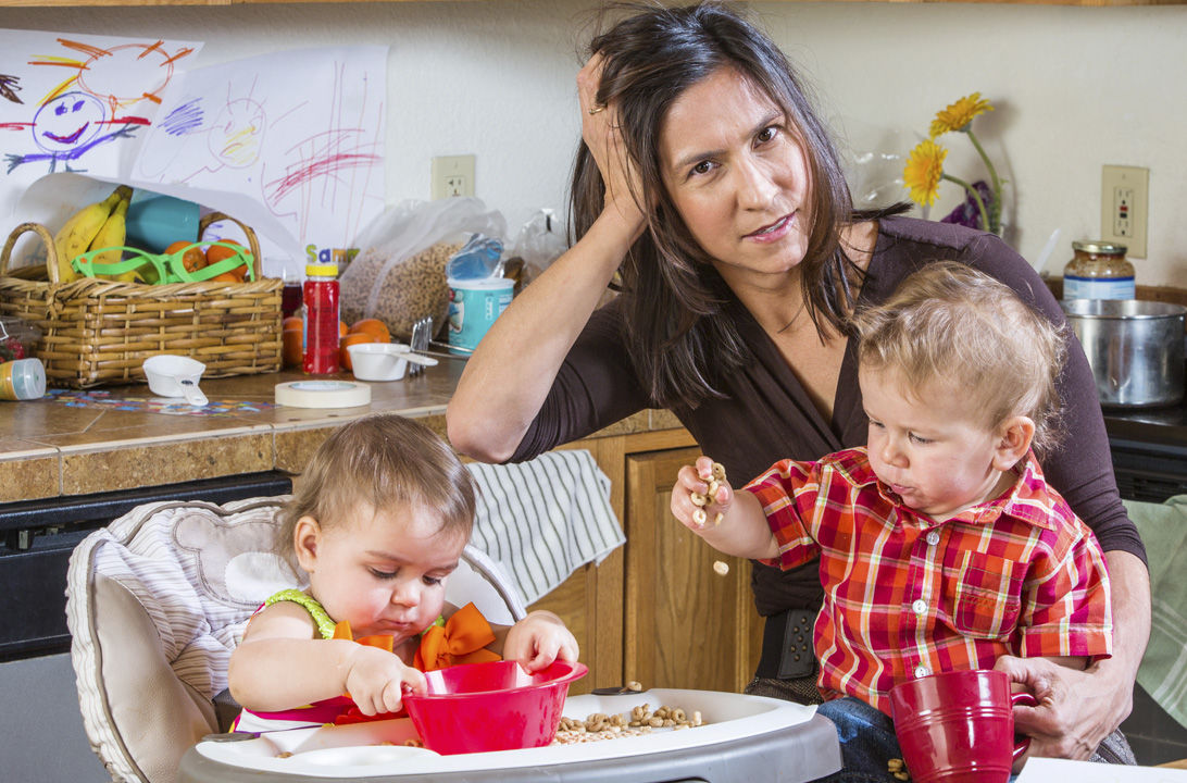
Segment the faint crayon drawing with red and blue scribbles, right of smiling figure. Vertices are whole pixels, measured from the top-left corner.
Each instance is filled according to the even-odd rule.
[[[146,130],[133,178],[248,196],[300,246],[349,247],[383,208],[386,68],[387,48],[343,46],[188,71]],[[267,257],[266,223],[246,219]]]

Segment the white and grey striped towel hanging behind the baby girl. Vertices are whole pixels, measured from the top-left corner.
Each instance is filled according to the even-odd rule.
[[[588,450],[466,467],[480,490],[470,543],[502,566],[527,605],[627,541],[610,506],[610,479]]]

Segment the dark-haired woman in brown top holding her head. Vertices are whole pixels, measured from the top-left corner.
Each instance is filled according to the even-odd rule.
[[[447,411],[459,450],[526,460],[645,408],[668,408],[740,482],[776,459],[864,442],[846,320],[929,260],[967,263],[1060,322],[1058,303],[997,238],[855,213],[837,153],[791,65],[711,4],[645,6],[595,37],[578,74],[578,241],[495,322]],[[622,295],[597,309],[621,274]],[[533,335],[531,352],[520,335]],[[998,668],[1040,697],[1017,722],[1040,754],[1088,758],[1131,707],[1149,632],[1145,552],[1121,504],[1091,371],[1078,348],[1060,384],[1064,448],[1050,482],[1097,533],[1115,591],[1115,653],[1056,671]],[[1003,368],[1009,372],[1009,368]],[[814,617],[812,567],[755,566],[767,618],[750,693],[811,701],[813,669],[787,639]],[[811,643],[808,644],[811,649]],[[1119,732],[1112,741],[1128,753]]]

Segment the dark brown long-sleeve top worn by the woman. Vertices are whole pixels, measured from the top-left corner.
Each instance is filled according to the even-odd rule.
[[[883,302],[903,277],[940,259],[963,261],[991,274],[1052,321],[1064,322],[1062,310],[1043,282],[998,238],[901,216],[880,222],[859,303]],[[741,303],[728,305],[721,317],[737,320],[753,359],[724,379],[723,399],[710,398],[696,409],[673,412],[704,453],[725,466],[735,486],[742,486],[781,459],[815,460],[865,443],[868,421],[857,385],[855,345],[850,343],[845,352],[832,421],[826,421]],[[512,461],[531,459],[656,406],[631,368],[621,324],[620,310],[612,302],[592,315]],[[1117,492],[1092,371],[1075,337],[1069,330],[1068,334],[1073,345],[1059,380],[1065,435],[1060,448],[1043,460],[1043,472],[1092,528],[1105,551],[1124,550],[1144,562],[1142,539]],[[1009,368],[1003,367],[1002,372]],[[760,614],[815,610],[820,605],[814,563],[788,572],[755,563],[751,581]]]

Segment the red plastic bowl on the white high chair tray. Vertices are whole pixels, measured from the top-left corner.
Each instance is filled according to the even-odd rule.
[[[443,754],[541,747],[560,722],[569,683],[584,663],[557,661],[527,674],[515,661],[468,663],[425,673],[429,692],[404,706],[425,747]]]

